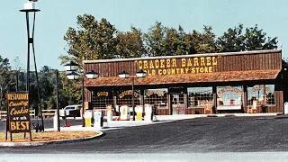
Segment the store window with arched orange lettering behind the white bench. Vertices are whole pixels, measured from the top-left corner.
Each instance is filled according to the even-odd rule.
[[[217,86],[217,110],[241,109],[242,97],[242,86]]]

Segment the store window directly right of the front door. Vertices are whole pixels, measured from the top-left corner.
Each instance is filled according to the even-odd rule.
[[[189,87],[187,91],[189,108],[213,105],[212,87]]]

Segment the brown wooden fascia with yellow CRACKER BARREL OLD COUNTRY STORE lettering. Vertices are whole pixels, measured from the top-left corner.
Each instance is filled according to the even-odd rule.
[[[85,60],[84,63],[85,71],[94,70],[101,74],[101,77],[112,77],[110,79],[105,78],[104,83],[101,83],[101,85],[111,85],[108,83],[115,81],[115,77],[121,71],[128,71],[130,75],[135,75],[139,70],[143,70],[147,72],[148,76],[159,75],[162,77],[182,74],[281,69],[281,57],[282,51],[276,49],[148,58],[97,59]],[[85,84],[91,82],[85,82]],[[162,81],[158,82],[160,85],[163,84]],[[157,81],[153,81],[153,83],[157,84]]]

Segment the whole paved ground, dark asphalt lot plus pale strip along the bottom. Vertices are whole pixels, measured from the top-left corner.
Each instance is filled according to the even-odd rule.
[[[108,122],[110,126],[101,129],[105,135],[98,139],[30,148],[0,148],[0,154],[35,157],[22,158],[23,161],[24,159],[33,161],[38,159],[39,155],[50,156],[49,161],[54,159],[84,161],[85,157],[85,160],[105,161],[285,161],[287,159],[288,115],[171,116],[170,119],[157,116],[158,121],[151,122]],[[64,129],[97,130],[93,127],[83,128],[76,125]],[[13,160],[12,157],[0,157],[1,159]]]

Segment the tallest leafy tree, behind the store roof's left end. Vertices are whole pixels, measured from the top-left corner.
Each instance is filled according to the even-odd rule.
[[[77,29],[68,28],[64,36],[70,57],[60,56],[61,63],[76,60],[82,65],[83,59],[115,58],[117,43],[115,27],[106,19],[98,23],[90,14],[78,15],[76,19]]]

